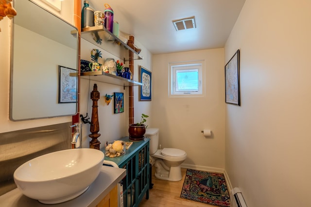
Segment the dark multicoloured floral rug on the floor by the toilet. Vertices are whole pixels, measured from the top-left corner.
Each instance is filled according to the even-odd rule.
[[[181,198],[219,207],[230,207],[230,197],[221,173],[187,169]]]

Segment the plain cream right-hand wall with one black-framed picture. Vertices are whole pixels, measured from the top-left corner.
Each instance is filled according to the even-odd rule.
[[[225,170],[250,207],[310,207],[311,1],[246,0],[225,45],[241,51],[241,107],[225,105]]]

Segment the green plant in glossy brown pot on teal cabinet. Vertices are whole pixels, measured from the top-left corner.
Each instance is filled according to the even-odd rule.
[[[144,134],[146,133],[146,128],[148,127],[144,124],[147,121],[147,117],[149,116],[142,113],[139,123],[129,125],[128,133],[130,135],[130,140],[140,141],[144,139]]]

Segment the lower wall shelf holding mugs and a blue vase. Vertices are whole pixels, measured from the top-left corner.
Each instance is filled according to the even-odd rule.
[[[87,80],[95,80],[99,82],[110,83],[114,85],[126,86],[138,86],[142,83],[135,80],[129,80],[122,78],[120,76],[115,76],[109,73],[104,73],[104,71],[94,71],[94,72],[81,72],[81,78]]]

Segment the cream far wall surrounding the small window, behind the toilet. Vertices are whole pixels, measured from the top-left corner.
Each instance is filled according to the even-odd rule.
[[[168,97],[169,63],[205,60],[206,96]],[[184,164],[197,168],[225,168],[224,49],[207,49],[154,55],[152,73],[153,125],[159,143],[187,153]],[[211,129],[206,138],[203,129]]]

